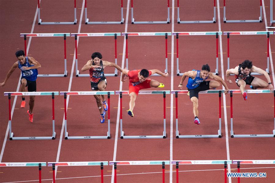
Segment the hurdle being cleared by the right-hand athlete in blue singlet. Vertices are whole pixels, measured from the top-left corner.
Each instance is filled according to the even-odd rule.
[[[225,90],[206,90],[206,91],[200,91],[199,94],[213,94],[218,93],[219,94],[219,129],[218,129],[218,135],[179,135],[178,131],[178,94],[187,94],[188,90],[172,90],[171,94],[175,94],[176,98],[176,138],[221,138],[222,137],[222,104],[221,104],[221,97],[222,93],[224,93]]]

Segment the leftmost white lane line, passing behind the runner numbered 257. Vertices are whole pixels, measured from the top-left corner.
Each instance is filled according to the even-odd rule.
[[[31,34],[33,33],[33,30],[34,30],[35,21],[36,21],[36,18],[37,18],[37,13],[38,13],[38,6],[36,7],[35,17],[33,19],[32,27],[31,27]],[[32,37],[30,37],[30,39],[28,41],[27,53],[25,53],[26,55],[28,55],[28,52],[29,52],[29,48],[30,48],[30,45],[31,45],[31,38]],[[19,80],[18,80],[16,92],[18,92],[19,88],[20,88],[20,78],[21,78],[21,74],[20,74],[20,77],[19,77]],[[11,110],[11,119],[13,118],[13,111],[14,111],[14,108],[15,108],[16,99],[17,99],[17,96],[15,96],[14,100],[13,100],[13,107],[12,107],[12,110]],[[1,149],[0,162],[2,162],[2,158],[3,158],[3,154],[4,154],[4,150],[5,150],[5,146],[6,146],[6,142],[7,142],[7,138],[8,138],[8,133],[9,133],[9,122],[8,122],[7,130],[6,130],[3,146],[2,146],[2,149]]]

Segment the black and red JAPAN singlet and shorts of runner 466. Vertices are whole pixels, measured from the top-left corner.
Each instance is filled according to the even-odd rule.
[[[95,65],[94,62],[93,62],[93,65]],[[97,85],[99,84],[100,81],[105,81],[107,86],[107,80],[104,76],[104,68],[103,68],[102,60],[100,61],[100,67],[90,68],[89,72],[90,72],[92,90],[98,90]]]

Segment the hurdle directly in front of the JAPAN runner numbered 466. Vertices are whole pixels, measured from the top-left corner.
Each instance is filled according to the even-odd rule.
[[[60,95],[64,95],[65,139],[110,139],[110,95],[114,94],[114,91],[60,91]],[[107,136],[69,136],[67,131],[67,95],[108,95],[109,109]]]

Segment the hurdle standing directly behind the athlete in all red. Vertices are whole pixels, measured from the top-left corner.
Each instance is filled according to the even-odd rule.
[[[126,38],[126,68],[128,69],[128,36],[165,36],[165,70],[164,73],[168,72],[168,59],[167,59],[167,39],[171,36],[171,32],[129,32],[121,33]],[[161,76],[159,74],[152,74],[151,76]]]

